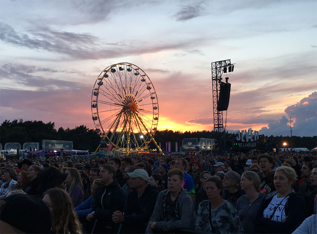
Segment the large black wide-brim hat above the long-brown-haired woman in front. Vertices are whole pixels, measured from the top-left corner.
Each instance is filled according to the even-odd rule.
[[[55,167],[49,167],[39,173],[38,178],[40,185],[37,190],[44,192],[50,188],[54,188],[63,183],[67,175],[67,173],[61,173],[60,170]]]

